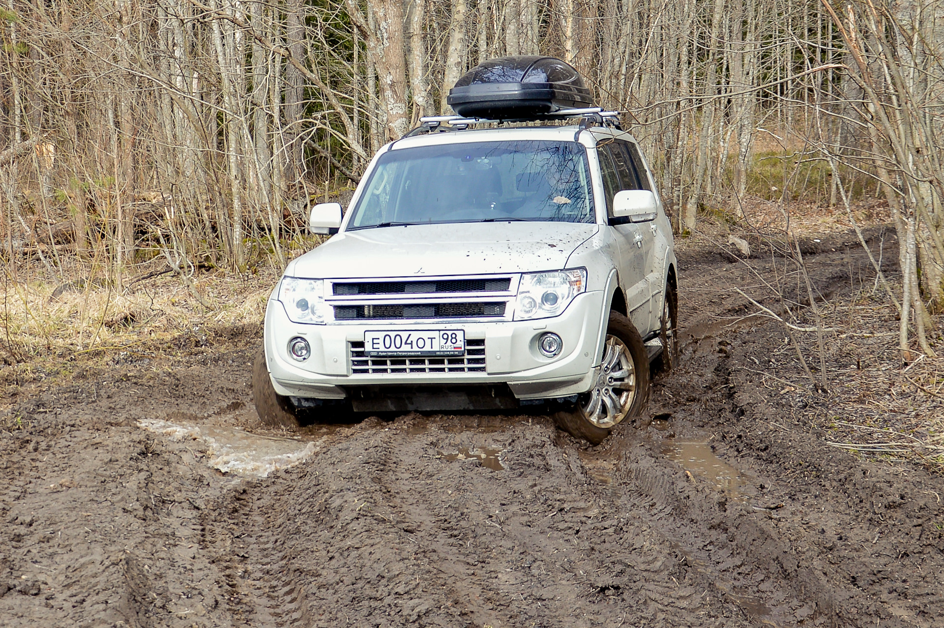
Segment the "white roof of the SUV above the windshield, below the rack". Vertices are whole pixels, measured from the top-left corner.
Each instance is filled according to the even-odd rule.
[[[392,144],[388,144],[387,150],[399,150],[402,148],[413,148],[416,146],[441,146],[447,144],[465,144],[471,142],[514,142],[522,140],[547,140],[557,142],[574,142],[576,140],[581,142],[581,144],[593,146],[596,144],[596,138],[591,133],[603,133],[611,137],[614,135],[632,137],[632,135],[626,131],[620,131],[613,128],[584,127],[583,130],[590,131],[590,133],[581,133],[580,138],[575,138],[575,135],[579,130],[581,130],[581,128],[577,125],[568,125],[566,127],[456,129],[404,137],[396,140]]]

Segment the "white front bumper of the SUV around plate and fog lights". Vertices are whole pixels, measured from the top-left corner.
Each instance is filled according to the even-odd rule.
[[[602,291],[578,295],[563,314],[527,321],[397,319],[305,325],[294,323],[275,298],[265,311],[265,357],[279,395],[316,399],[345,399],[352,388],[376,385],[441,385],[507,383],[517,399],[565,397],[590,389],[599,363],[603,317]],[[364,331],[457,330],[468,340],[484,340],[483,372],[355,373],[351,344],[363,341]],[[537,338],[552,331],[564,341],[554,358],[537,349]],[[296,362],[288,352],[295,336],[308,340],[312,355]],[[362,369],[360,369],[362,370]]]

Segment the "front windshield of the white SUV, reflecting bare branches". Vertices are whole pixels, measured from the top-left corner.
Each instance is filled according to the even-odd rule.
[[[576,142],[477,142],[383,153],[347,229],[503,220],[595,222]]]

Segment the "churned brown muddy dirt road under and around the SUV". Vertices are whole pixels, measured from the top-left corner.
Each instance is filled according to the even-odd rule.
[[[842,240],[806,251],[833,299],[872,277]],[[680,264],[682,363],[595,448],[546,416],[265,432],[256,329],[76,360],[4,418],[0,624],[944,626],[941,477],[784,394],[782,328],[727,292],[770,259]]]

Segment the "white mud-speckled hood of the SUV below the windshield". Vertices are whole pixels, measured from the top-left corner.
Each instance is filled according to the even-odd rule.
[[[285,274],[321,279],[479,275],[565,268],[598,225],[453,223],[345,231],[289,263]]]

